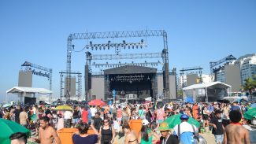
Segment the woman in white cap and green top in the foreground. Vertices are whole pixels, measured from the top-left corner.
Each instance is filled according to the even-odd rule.
[[[141,130],[139,131],[139,143],[140,144],[151,144],[153,142],[153,136],[159,139],[159,136],[150,129],[150,123],[148,120],[142,121],[143,127],[141,127]]]

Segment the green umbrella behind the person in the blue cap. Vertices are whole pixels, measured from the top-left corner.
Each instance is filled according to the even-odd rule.
[[[169,116],[164,122],[169,124],[170,128],[173,128],[173,127],[176,126],[176,124],[181,123],[180,116],[181,116],[181,114],[176,114],[176,115],[173,115],[173,116]],[[192,117],[189,117],[187,123],[194,124],[195,127],[200,127],[200,123],[197,120],[193,119]]]

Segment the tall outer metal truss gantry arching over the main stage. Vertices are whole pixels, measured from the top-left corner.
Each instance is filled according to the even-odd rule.
[[[162,36],[164,40],[164,50],[162,57],[164,59],[164,89],[165,98],[169,98],[169,54],[167,45],[167,33],[164,30],[145,30],[145,31],[106,31],[106,32],[87,32],[87,33],[73,33],[68,37],[67,42],[67,63],[66,76],[71,77],[71,54],[73,50],[72,41],[75,39],[113,39],[113,38],[127,38],[127,37],[158,37]],[[67,90],[70,90],[70,79],[66,83]]]

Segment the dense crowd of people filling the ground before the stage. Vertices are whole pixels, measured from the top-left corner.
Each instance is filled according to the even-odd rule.
[[[56,110],[55,106],[32,105],[10,106],[0,109],[0,118],[13,120],[24,127],[34,126],[35,142],[61,143],[56,131],[63,127],[77,127],[72,135],[74,144],[113,143],[115,138],[124,137],[125,144],[147,143],[195,143],[198,133],[212,131],[216,143],[250,143],[249,132],[243,125],[247,104],[183,103],[166,104],[144,103],[126,105],[70,105],[72,110]],[[181,124],[169,127],[165,120],[180,114]],[[194,118],[200,127],[189,123]],[[141,120],[139,135],[129,125],[130,120]],[[88,131],[93,131],[89,134]]]

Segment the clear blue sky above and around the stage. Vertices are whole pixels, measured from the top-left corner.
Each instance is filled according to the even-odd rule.
[[[58,97],[67,38],[76,32],[163,29],[168,34],[169,67],[178,72],[201,66],[208,74],[210,61],[256,53],[255,0],[2,0],[0,21],[0,102],[6,90],[17,86],[24,61],[54,69],[53,91]],[[153,48],[144,52],[155,52],[162,44],[147,41]],[[77,44],[75,50],[83,46]],[[73,71],[83,72],[84,52],[72,54]],[[48,88],[49,82],[33,76],[33,87]]]

